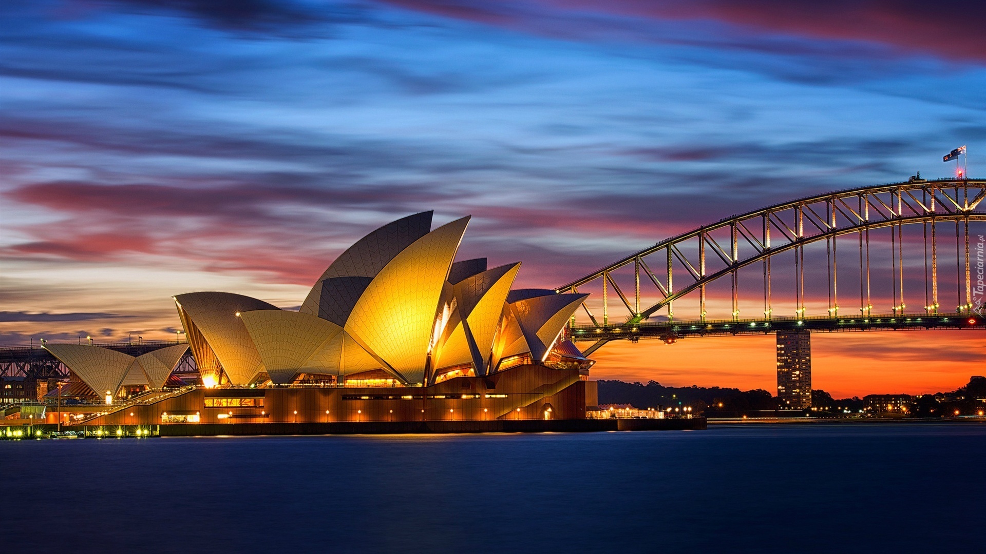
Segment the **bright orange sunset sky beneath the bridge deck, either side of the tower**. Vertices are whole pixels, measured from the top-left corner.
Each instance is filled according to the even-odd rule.
[[[984,331],[814,333],[812,387],[843,398],[954,390],[983,374]],[[614,342],[593,356],[596,379],[777,388],[773,335]]]

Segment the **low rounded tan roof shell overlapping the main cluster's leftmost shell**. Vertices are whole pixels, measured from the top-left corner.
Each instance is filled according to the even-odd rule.
[[[291,382],[307,362],[342,332],[335,323],[311,313],[258,310],[240,314],[263,366],[275,383]]]

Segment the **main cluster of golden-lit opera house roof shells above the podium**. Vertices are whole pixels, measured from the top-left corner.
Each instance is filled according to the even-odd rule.
[[[587,295],[511,291],[520,263],[455,261],[469,218],[390,223],[343,252],[299,312],[249,297],[175,297],[207,385],[301,379],[429,385],[521,364],[591,364],[565,340]]]

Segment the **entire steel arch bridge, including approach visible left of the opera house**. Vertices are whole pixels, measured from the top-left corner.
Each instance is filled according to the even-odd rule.
[[[914,176],[703,225],[558,287],[592,293],[566,332],[587,355],[614,340],[777,334],[780,357],[782,339],[814,332],[983,329],[984,199],[986,180]],[[26,375],[67,374],[43,349],[0,349],[0,377]]]

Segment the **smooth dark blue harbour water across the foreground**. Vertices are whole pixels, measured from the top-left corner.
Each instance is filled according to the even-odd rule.
[[[982,551],[986,425],[0,442],[0,550]]]

